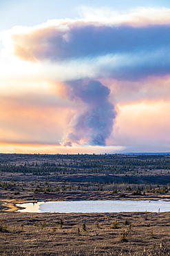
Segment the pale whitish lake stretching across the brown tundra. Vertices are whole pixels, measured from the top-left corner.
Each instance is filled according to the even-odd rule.
[[[19,212],[169,212],[170,201],[98,200],[50,201],[17,204]]]

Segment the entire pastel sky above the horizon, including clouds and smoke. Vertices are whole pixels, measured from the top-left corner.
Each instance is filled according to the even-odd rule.
[[[170,1],[0,0],[0,152],[170,152]]]

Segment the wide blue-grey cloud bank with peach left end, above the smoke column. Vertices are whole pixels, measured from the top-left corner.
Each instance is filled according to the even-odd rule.
[[[87,63],[94,68],[94,78],[109,76],[116,80],[138,80],[149,75],[167,75],[170,19],[165,15],[166,22],[163,23],[160,18],[170,14],[170,10],[155,12],[153,16],[153,9],[145,10],[142,17],[141,10],[135,12],[126,17],[131,18],[128,24],[123,21],[124,15],[122,19],[119,15],[117,22],[114,17],[112,22],[111,19],[107,22],[65,19],[47,21],[33,28],[15,27],[10,31],[10,50],[29,62],[50,61],[65,66],[75,61]]]

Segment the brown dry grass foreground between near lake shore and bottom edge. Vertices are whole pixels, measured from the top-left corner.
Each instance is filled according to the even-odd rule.
[[[170,255],[170,214],[1,212],[0,255]]]

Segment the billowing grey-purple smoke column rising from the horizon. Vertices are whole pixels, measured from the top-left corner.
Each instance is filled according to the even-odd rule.
[[[67,97],[75,102],[83,102],[83,108],[70,121],[63,145],[105,146],[116,117],[114,105],[109,102],[109,88],[94,80],[87,84],[83,84],[83,80],[67,82],[66,86]]]

